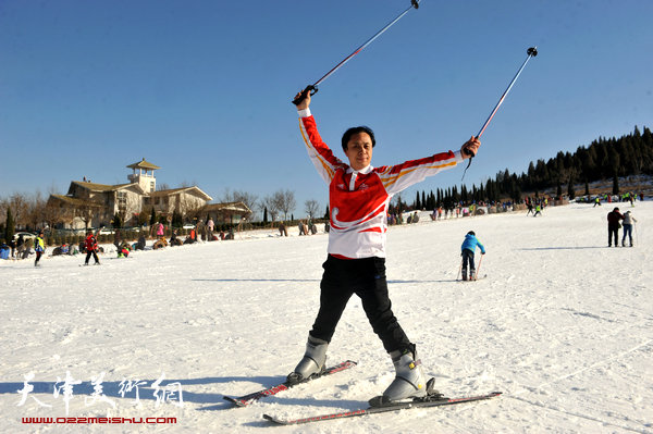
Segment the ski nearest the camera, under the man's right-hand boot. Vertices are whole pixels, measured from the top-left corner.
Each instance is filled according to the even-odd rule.
[[[396,402],[396,404],[385,405],[382,407],[369,407],[367,409],[341,411],[341,412],[335,412],[335,413],[313,416],[310,418],[280,419],[280,418],[269,416],[269,414],[263,414],[263,418],[266,420],[273,422],[275,424],[279,424],[279,425],[298,425],[298,424],[303,424],[303,423],[320,422],[320,421],[328,421],[328,420],[334,420],[334,419],[355,418],[355,417],[365,416],[365,414],[384,413],[384,412],[389,412],[389,411],[407,410],[407,409],[414,409],[414,408],[452,406],[455,404],[491,399],[491,398],[500,396],[501,394],[502,394],[501,392],[493,392],[491,394],[485,394],[485,395],[465,396],[465,397],[459,397],[459,398],[442,398],[438,395],[438,397],[432,400],[429,400],[429,398],[416,399],[410,402]]]

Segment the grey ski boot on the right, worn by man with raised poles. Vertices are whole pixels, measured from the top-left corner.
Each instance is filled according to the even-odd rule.
[[[428,393],[427,380],[421,360],[417,358],[415,345],[412,350],[392,351],[390,357],[392,357],[396,376],[382,396],[370,399],[370,406],[382,407],[401,400],[426,398]]]

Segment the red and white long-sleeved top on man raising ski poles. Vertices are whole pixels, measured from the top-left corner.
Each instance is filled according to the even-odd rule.
[[[385,258],[386,215],[392,197],[463,161],[460,151],[448,151],[397,165],[369,165],[355,171],[322,141],[310,110],[298,114],[308,156],[329,185],[328,251],[338,258]]]

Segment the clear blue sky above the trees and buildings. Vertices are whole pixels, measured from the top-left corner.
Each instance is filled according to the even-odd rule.
[[[407,0],[1,0],[0,197],[65,194],[83,176],[326,204],[289,100]],[[373,165],[458,149],[532,59],[482,137],[468,185],[653,125],[653,1],[422,0],[329,77],[322,137],[369,125]],[[341,150],[336,151],[344,158]],[[459,185],[464,168],[417,189]],[[410,201],[415,189],[406,191]]]

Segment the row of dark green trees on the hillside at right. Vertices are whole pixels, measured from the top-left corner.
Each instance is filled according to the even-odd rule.
[[[547,161],[541,159],[530,162],[528,171],[517,175],[507,169],[501,171],[492,179],[471,188],[461,185],[446,189],[417,191],[412,202],[415,209],[432,210],[438,206],[452,208],[454,203],[471,201],[497,202],[512,200],[520,202],[525,194],[538,196],[538,191],[555,191],[563,196],[563,185],[570,199],[576,197],[576,185],[584,184],[584,195],[589,195],[589,183],[601,179],[613,179],[613,194],[619,194],[619,176],[653,175],[653,135],[643,127],[643,133],[636,126],[631,134],[619,138],[604,138],[592,141],[589,146],[579,147],[576,152],[558,152]],[[398,198],[396,207],[407,209],[408,204]]]

